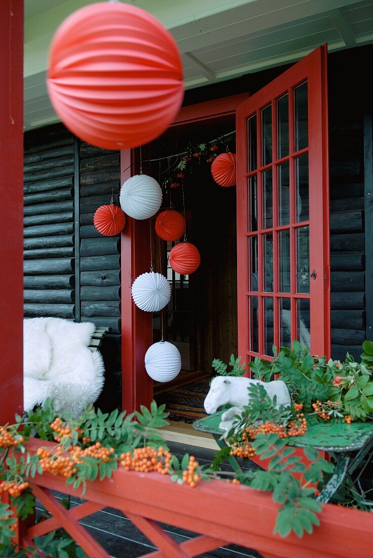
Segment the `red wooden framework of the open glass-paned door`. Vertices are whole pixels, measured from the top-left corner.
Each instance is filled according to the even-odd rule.
[[[247,360],[250,356],[254,356],[256,352],[250,351],[249,346],[249,307],[248,293],[249,291],[249,250],[248,250],[248,217],[249,217],[249,199],[248,199],[248,117],[251,114],[257,114],[258,120],[258,161],[256,163],[256,174],[259,177],[259,169],[262,162],[259,161],[259,146],[261,146],[260,120],[258,119],[262,108],[272,104],[272,142],[273,153],[276,155],[272,160],[273,169],[277,169],[275,161],[277,160],[277,118],[275,114],[275,100],[282,97],[286,92],[292,93],[295,86],[301,84],[307,79],[308,81],[308,150],[309,153],[309,223],[311,228],[310,234],[310,261],[309,270],[316,270],[316,279],[310,281],[310,297],[313,301],[311,304],[311,352],[314,355],[330,356],[330,244],[329,244],[329,185],[328,185],[328,119],[327,119],[327,47],[323,45],[306,56],[303,60],[289,68],[283,74],[266,85],[259,92],[242,103],[236,111],[236,137],[237,137],[237,242],[238,242],[238,277],[241,280],[238,283],[238,323],[239,323],[239,355]],[[289,94],[289,122],[292,122],[292,114],[294,113],[293,94]],[[289,127],[289,155],[290,159],[294,159],[294,132],[292,126]],[[299,151],[297,155],[301,155]],[[282,160],[280,160],[282,161]],[[295,164],[295,163],[294,163]],[[290,183],[292,181],[292,171],[290,165]],[[267,168],[267,167],[265,167]],[[254,172],[254,171],[253,171]],[[274,206],[273,215],[277,214],[277,172],[273,172],[274,176]],[[261,181],[258,180],[258,215],[261,212]],[[295,194],[294,194],[295,203]],[[260,208],[260,209],[259,209]],[[322,209],[321,211],[320,208]],[[294,211],[294,209],[293,209]],[[259,218],[260,219],[260,218]],[[295,219],[290,219],[290,223]],[[276,223],[274,223],[276,224]],[[258,224],[258,231],[261,227]],[[255,233],[254,233],[255,234]],[[312,236],[312,239],[311,239]],[[276,269],[278,262],[278,253],[276,243],[276,234],[273,239],[273,268],[274,268],[274,294],[278,292],[278,277],[276,277]],[[292,288],[290,295],[296,294],[296,271],[295,266],[295,232],[292,233],[292,250],[290,256],[290,272],[292,276]],[[261,300],[260,295],[265,296],[263,280],[261,279],[261,236],[259,234],[259,257],[258,257],[258,275],[259,275],[259,356],[270,358],[263,353],[264,335],[263,317],[261,316]],[[251,289],[254,291],[254,288]],[[253,295],[258,295],[254,293]],[[305,295],[307,296],[307,295]],[[302,298],[302,295],[299,295]],[[267,300],[267,299],[263,299]],[[273,299],[275,302],[275,299]],[[296,299],[292,298],[292,304]],[[278,308],[277,304],[273,305],[274,311],[274,339],[279,339],[278,324]],[[297,323],[295,312],[292,312],[292,339],[296,338]],[[295,333],[295,335],[294,335]],[[256,354],[256,355],[258,355]]]

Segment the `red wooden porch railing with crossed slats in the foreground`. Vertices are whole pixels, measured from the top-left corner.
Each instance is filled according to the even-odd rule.
[[[38,445],[40,440],[27,442],[31,453],[35,453]],[[144,555],[147,558],[191,558],[230,543],[255,549],[264,558],[350,558],[356,556],[357,550],[359,556],[371,554],[370,513],[326,504],[321,526],[312,535],[281,538],[273,535],[278,506],[273,503],[272,494],[220,480],[201,482],[192,489],[157,473],[119,468],[111,479],[89,482],[86,502],[69,511],[51,493],[57,490],[81,496],[80,490],[66,487],[64,478],[49,473],[37,475],[32,479],[32,490],[52,517],[29,527],[21,537],[22,542],[30,544],[35,535],[63,527],[91,558],[109,554],[78,521],[108,506],[123,512],[157,546],[158,551]],[[178,544],[158,522],[199,535]]]

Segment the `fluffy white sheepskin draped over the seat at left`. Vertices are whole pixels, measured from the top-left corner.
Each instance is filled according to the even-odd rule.
[[[95,325],[61,318],[24,321],[25,410],[43,405],[50,397],[57,413],[79,416],[86,405],[96,401],[104,384],[103,358],[88,349]]]

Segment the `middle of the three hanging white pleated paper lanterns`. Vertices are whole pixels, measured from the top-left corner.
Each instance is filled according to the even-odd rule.
[[[158,312],[171,299],[171,287],[161,273],[143,273],[132,283],[132,298],[145,312]]]

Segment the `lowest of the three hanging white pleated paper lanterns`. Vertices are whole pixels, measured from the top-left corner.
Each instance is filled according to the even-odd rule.
[[[181,355],[172,343],[158,341],[146,352],[145,368],[153,380],[170,382],[181,371]]]

